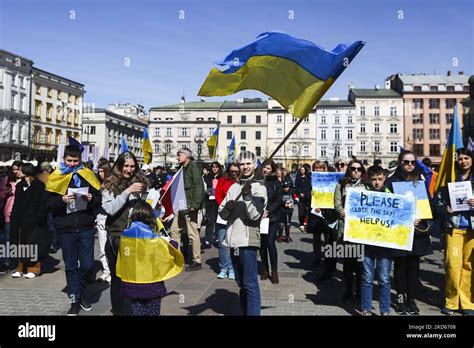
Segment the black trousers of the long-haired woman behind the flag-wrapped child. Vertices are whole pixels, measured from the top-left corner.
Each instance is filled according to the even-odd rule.
[[[110,302],[113,315],[131,315],[131,301],[122,294],[122,281],[117,277],[117,255],[120,237],[108,237],[105,243],[105,256],[110,268]]]

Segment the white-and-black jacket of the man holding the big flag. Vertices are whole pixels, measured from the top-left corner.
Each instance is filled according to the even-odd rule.
[[[252,183],[249,195],[240,196],[234,209],[225,207],[230,200],[236,200],[247,181]],[[260,220],[267,206],[267,189],[262,181],[254,177],[242,178],[233,184],[219,206],[219,215],[227,221],[226,244],[231,248],[260,247]]]

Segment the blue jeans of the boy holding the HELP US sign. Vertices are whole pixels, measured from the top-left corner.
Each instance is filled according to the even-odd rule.
[[[361,307],[362,310],[372,311],[372,288],[374,269],[377,263],[377,280],[380,289],[380,313],[390,313],[390,272],[392,270],[392,252],[390,249],[364,246],[364,261],[362,263]]]

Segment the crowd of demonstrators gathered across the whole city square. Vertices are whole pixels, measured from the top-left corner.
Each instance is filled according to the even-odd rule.
[[[217,278],[237,282],[243,315],[260,315],[258,277],[279,284],[276,243],[292,242],[290,231],[296,207],[299,229],[313,235],[313,267],[323,268],[318,281],[325,282],[333,278],[338,259],[323,254],[324,246],[349,243],[343,238],[347,189],[392,193],[395,182],[426,179],[415,154],[408,150],[402,151],[388,169],[380,163],[369,166],[354,158],[334,165],[317,160],[312,166],[293,166],[288,173],[271,159],[257,168],[255,154],[243,151],[236,162],[225,168],[213,162],[204,170],[187,148],[177,152],[177,161],[178,167],[169,171],[148,165],[140,168],[135,156],[124,152],[114,162],[100,159],[94,172],[93,166],[81,163],[80,149],[68,145],[63,162],[54,170],[47,162],[38,167],[13,162],[0,187],[0,243],[37,245],[38,257],[0,258],[0,274],[11,271],[13,278],[35,278],[41,274],[41,261],[61,248],[71,302],[67,314],[91,310],[83,293],[91,278],[97,236],[102,264],[98,280],[110,284],[112,313],[159,315],[161,297],[166,294],[164,280],[181,271],[180,257],[188,259],[187,272],[199,271],[202,250],[215,246],[219,258]],[[474,183],[472,164],[473,154],[469,150],[458,151],[457,181]],[[124,257],[125,240],[163,237],[156,225],[158,207],[151,207],[145,199],[150,189],[161,190],[179,168],[187,207],[175,212],[172,221],[165,223],[169,238],[163,243],[169,242],[172,248],[159,249],[166,254],[163,257],[172,260],[173,267],[166,272],[157,271],[166,276],[144,281],[140,274],[135,274],[135,280],[130,281],[126,271],[131,267],[127,263],[130,261]],[[334,209],[312,209],[312,172],[328,171],[344,173],[334,191]],[[433,252],[430,233],[436,221],[443,226],[445,241],[446,289],[441,311],[446,315],[455,311],[474,314],[474,209],[453,212],[446,188],[430,192],[430,202],[434,220],[415,221],[411,251],[365,245],[363,260],[354,255],[342,257],[342,301],[360,304],[361,315],[373,315],[376,275],[382,316],[391,312],[392,285],[397,294],[396,313],[418,314],[420,259]],[[468,204],[474,207],[474,198]],[[142,249],[137,247],[136,252],[149,253],[145,245],[144,242]],[[179,250],[182,254],[175,253]],[[146,267],[145,264],[137,269]]]

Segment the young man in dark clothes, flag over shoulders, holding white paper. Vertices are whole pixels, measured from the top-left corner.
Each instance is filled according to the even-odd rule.
[[[87,193],[78,193],[87,188]],[[46,209],[53,214],[56,233],[63,251],[67,292],[71,309],[67,315],[78,315],[80,308],[91,310],[82,294],[94,263],[94,224],[102,197],[95,174],[81,163],[77,146],[64,149],[64,163],[59,165],[46,182]],[[87,202],[85,209],[78,201]]]

